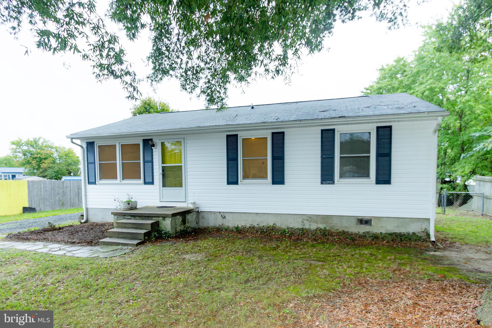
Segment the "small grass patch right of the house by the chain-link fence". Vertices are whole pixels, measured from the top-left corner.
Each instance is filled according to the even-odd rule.
[[[436,236],[449,241],[476,246],[492,245],[492,219],[459,209],[446,209],[446,214],[436,214]]]

